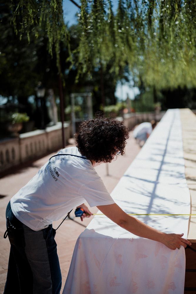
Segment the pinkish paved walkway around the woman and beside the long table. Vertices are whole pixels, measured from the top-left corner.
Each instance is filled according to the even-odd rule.
[[[132,132],[130,132],[129,135],[130,137],[127,140],[125,154],[123,156],[119,156],[116,161],[113,161],[109,164],[104,163],[95,168],[99,176],[103,179],[103,182],[109,193],[111,193],[121,176],[124,174],[126,169],[140,151],[140,147],[136,144]],[[3,238],[4,232],[6,230],[5,210],[7,203],[9,202],[10,198],[20,188],[22,188],[35,175],[35,173],[37,173],[39,168],[43,166],[45,162],[55,153],[48,154],[47,156],[34,161],[33,163],[23,166],[22,168],[14,168],[11,174],[6,175],[0,179],[0,294],[3,294],[6,281],[10,247],[8,238]],[[109,176],[106,176],[106,165],[108,165]],[[96,207],[91,209],[93,213],[96,213],[97,210],[98,209]],[[80,220],[75,219],[74,212],[71,213],[71,218],[74,218],[74,221],[70,219],[65,220],[65,222],[57,230],[55,237],[62,272],[62,288],[64,287],[69,270],[75,242],[80,233],[83,232],[85,227],[92,219],[88,218],[81,222]],[[62,220],[54,222],[53,227],[57,228],[61,221]]]

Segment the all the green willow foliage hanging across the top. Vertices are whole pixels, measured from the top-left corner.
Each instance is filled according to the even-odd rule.
[[[69,47],[62,1],[11,3],[20,36],[29,36],[32,29],[37,36],[44,23],[51,54],[55,45],[59,56],[60,42]],[[81,0],[79,46],[70,52],[70,58],[77,56],[77,78],[112,60],[111,72],[118,75],[129,65],[138,85],[142,81],[155,88],[195,87],[195,6],[196,0],[119,0],[113,13],[111,0]]]

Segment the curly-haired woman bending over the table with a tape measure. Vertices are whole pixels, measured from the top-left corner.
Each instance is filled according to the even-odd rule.
[[[124,154],[128,129],[120,121],[96,116],[83,121],[76,147],[60,150],[10,200],[6,225],[11,244],[4,294],[59,294],[61,272],[52,222],[74,207],[97,206],[115,223],[135,235],[162,242],[170,249],[190,242],[165,234],[129,216],[113,201],[94,167]],[[6,238],[6,234],[5,234]],[[27,290],[28,289],[28,290]]]

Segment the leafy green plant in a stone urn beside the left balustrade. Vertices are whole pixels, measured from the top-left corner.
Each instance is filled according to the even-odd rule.
[[[11,133],[11,136],[18,137],[19,131],[22,130],[22,124],[29,121],[27,113],[9,113],[7,117],[7,130]]]

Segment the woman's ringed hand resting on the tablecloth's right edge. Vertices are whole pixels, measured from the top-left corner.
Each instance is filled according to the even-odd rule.
[[[190,241],[182,238],[184,234],[164,234],[163,244],[167,246],[169,249],[175,250],[176,248],[180,248],[180,246],[191,245]]]

